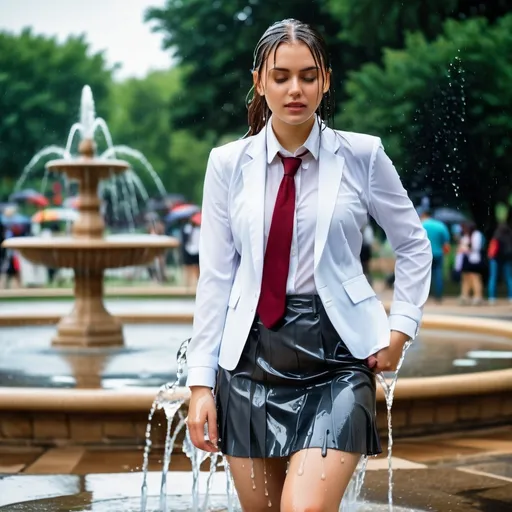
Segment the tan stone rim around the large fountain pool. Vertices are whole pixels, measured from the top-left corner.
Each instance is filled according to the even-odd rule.
[[[192,315],[127,315],[123,321],[143,323],[172,323],[190,321]],[[21,315],[2,318],[0,326],[19,325]],[[33,318],[33,317],[31,317]],[[34,320],[34,323],[36,320]],[[24,323],[23,325],[26,325]],[[485,318],[466,318],[453,315],[426,314],[423,327],[454,331],[471,331],[507,336],[512,339],[512,323]],[[66,412],[147,412],[158,393],[156,387],[106,389],[48,389],[48,388],[6,388],[0,387],[0,411],[66,411]],[[435,399],[441,397],[462,397],[485,395],[512,390],[512,369],[490,370],[459,375],[436,377],[404,377],[398,379],[395,400]],[[176,390],[176,398],[187,400],[189,391],[185,387]],[[384,393],[377,388],[377,401],[384,402]]]

